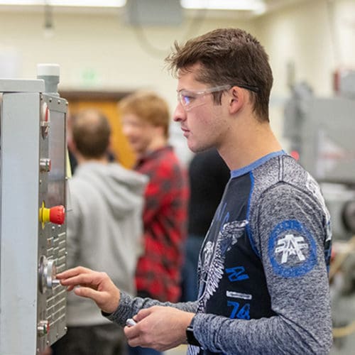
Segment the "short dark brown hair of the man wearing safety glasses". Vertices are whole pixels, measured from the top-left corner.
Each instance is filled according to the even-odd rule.
[[[185,45],[175,42],[175,50],[167,58],[175,75],[202,65],[196,80],[212,86],[225,84],[255,87],[250,91],[253,110],[258,119],[268,121],[268,103],[273,86],[273,73],[263,46],[250,33],[239,28],[219,28],[187,40]],[[220,104],[222,94],[214,93]]]

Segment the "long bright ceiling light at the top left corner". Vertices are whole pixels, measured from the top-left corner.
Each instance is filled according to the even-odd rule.
[[[121,7],[126,5],[126,0],[0,0],[0,5]]]

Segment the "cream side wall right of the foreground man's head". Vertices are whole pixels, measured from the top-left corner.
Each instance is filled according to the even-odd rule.
[[[355,1],[334,0],[330,6],[327,0],[303,1],[258,18],[256,26],[273,68],[271,124],[280,138],[290,94],[289,62],[294,63],[295,82],[307,82],[322,97],[333,95],[334,70],[355,70]],[[287,148],[287,142],[283,145]]]

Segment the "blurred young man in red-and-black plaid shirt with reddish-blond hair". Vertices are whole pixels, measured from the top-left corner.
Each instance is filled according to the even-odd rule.
[[[139,297],[177,302],[187,236],[187,173],[168,145],[168,104],[153,92],[136,92],[119,102],[124,135],[137,155],[135,170],[149,178],[143,210],[143,255],[136,269]],[[140,347],[130,355],[158,355]]]

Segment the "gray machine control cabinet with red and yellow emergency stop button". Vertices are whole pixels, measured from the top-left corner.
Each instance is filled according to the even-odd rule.
[[[41,354],[65,332],[67,101],[59,66],[0,80],[0,354]]]

